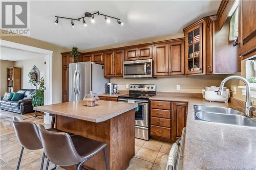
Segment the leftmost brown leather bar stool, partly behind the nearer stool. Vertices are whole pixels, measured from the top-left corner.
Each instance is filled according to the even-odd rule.
[[[22,144],[22,150],[20,151],[20,156],[18,159],[17,170],[19,169],[20,161],[22,160],[24,148],[28,150],[39,150],[42,149],[41,139],[39,135],[38,128],[33,122],[20,122],[18,118],[13,117],[12,119],[13,127],[17,136],[18,141]],[[47,129],[48,131],[59,131],[55,128]],[[63,131],[61,131],[63,132]],[[69,135],[74,135],[69,133]],[[41,170],[44,166],[45,151],[42,154]],[[55,167],[56,168],[56,167]]]

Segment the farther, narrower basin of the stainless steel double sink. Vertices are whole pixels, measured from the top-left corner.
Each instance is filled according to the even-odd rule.
[[[237,111],[228,107],[218,107],[218,106],[195,105],[194,110],[212,112],[212,113],[241,114],[240,111]]]

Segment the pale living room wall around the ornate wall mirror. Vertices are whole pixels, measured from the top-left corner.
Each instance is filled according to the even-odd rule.
[[[22,68],[22,88],[25,89],[35,89],[35,86],[29,84],[29,72],[35,65],[40,71],[40,78],[45,77],[45,57],[42,55],[41,57],[37,56],[34,59],[27,60],[19,60],[15,62],[15,67]]]

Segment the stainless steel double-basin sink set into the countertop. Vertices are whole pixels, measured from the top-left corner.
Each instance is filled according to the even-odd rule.
[[[256,127],[256,121],[227,107],[194,105],[195,119],[221,124]]]

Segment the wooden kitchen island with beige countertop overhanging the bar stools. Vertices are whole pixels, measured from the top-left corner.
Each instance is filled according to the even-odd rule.
[[[125,169],[134,156],[135,108],[137,104],[96,101],[85,106],[84,101],[35,107],[34,110],[56,115],[56,128],[108,144],[110,169]],[[87,160],[88,169],[105,169],[103,151]],[[63,167],[75,169],[75,166]]]

